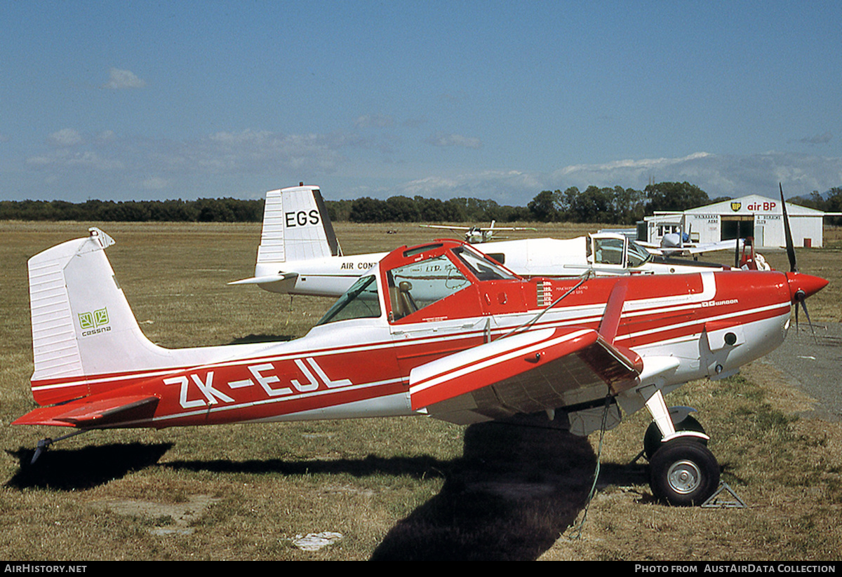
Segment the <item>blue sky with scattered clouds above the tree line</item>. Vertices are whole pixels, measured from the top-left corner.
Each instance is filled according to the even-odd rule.
[[[842,186],[842,3],[0,0],[0,199]]]

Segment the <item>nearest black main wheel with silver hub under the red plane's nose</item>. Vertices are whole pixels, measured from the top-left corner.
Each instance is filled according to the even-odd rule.
[[[719,463],[701,442],[679,437],[653,454],[649,486],[656,498],[670,505],[701,505],[719,486]]]

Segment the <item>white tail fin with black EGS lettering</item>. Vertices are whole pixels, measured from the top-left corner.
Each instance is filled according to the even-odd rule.
[[[261,276],[261,265],[266,263],[332,256],[341,257],[342,249],[318,187],[298,186],[266,193],[256,277]]]

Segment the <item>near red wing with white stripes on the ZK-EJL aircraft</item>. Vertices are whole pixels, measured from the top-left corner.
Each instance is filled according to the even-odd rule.
[[[637,384],[640,357],[592,329],[527,331],[413,368],[413,410],[468,424],[602,400]]]

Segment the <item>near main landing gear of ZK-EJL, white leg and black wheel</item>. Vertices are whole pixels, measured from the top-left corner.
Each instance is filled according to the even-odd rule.
[[[700,506],[719,486],[719,463],[690,409],[667,409],[658,391],[647,402],[653,423],[643,437],[649,459],[649,486],[658,500],[674,506]]]

